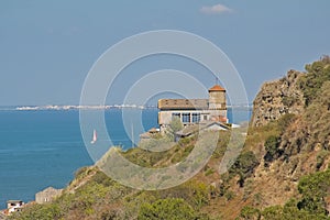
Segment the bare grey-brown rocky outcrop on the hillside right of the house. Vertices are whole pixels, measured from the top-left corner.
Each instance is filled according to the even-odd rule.
[[[305,100],[298,79],[302,73],[289,70],[287,76],[265,82],[253,101],[251,124],[261,127],[283,114],[298,114],[304,110]]]

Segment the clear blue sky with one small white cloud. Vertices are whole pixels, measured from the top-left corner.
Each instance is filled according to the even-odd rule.
[[[328,0],[2,0],[0,106],[77,105],[85,78],[109,47],[156,30],[197,34],[221,48],[252,102],[264,81],[330,54],[329,9]],[[134,81],[157,69],[215,84],[208,69],[185,58],[145,59],[118,77],[109,103],[120,103]]]

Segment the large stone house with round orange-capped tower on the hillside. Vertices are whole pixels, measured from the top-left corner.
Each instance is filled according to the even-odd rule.
[[[215,85],[208,99],[160,99],[158,124],[163,133],[174,118],[184,127],[201,122],[228,122],[226,89]]]

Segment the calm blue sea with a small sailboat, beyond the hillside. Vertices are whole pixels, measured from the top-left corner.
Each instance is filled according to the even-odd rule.
[[[157,109],[142,111],[144,130],[157,127]],[[229,110],[230,122],[240,123],[250,117],[251,111],[246,114],[246,110],[241,110],[233,119]],[[105,119],[113,144],[131,147],[122,111],[107,110]],[[138,139],[135,131],[134,140]],[[0,209],[6,208],[9,199],[28,202],[48,186],[63,188],[79,167],[92,164],[82,142],[79,111],[0,108]]]

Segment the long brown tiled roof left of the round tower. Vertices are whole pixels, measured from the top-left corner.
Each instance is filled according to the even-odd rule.
[[[208,99],[160,99],[158,109],[208,109]]]

